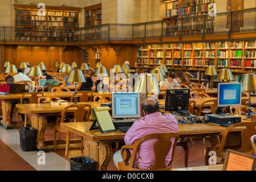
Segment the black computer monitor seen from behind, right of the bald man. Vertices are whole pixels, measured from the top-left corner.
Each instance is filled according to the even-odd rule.
[[[190,89],[166,89],[165,111],[188,110]]]

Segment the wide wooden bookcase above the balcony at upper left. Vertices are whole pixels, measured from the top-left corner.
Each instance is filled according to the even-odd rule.
[[[44,16],[38,16],[36,5],[14,5],[17,39],[27,41],[70,41],[72,28],[79,27],[78,7],[46,6]],[[22,36],[21,36],[22,35]]]

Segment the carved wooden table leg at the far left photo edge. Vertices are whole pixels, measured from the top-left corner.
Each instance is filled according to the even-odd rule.
[[[3,121],[1,124],[6,127],[6,129],[12,129],[13,125],[11,125],[11,101],[9,100],[2,100],[2,117]]]

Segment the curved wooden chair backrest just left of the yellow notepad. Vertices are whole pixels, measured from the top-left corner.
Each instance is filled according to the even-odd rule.
[[[76,105],[67,106],[63,109],[62,113],[60,113],[60,115],[61,115],[60,123],[64,122],[64,119],[66,118],[65,115],[66,115],[66,112],[68,109],[75,109],[74,110],[75,122],[90,121],[90,115],[91,115],[91,111],[92,111],[91,105],[76,104]],[[56,122],[58,124],[59,120]]]

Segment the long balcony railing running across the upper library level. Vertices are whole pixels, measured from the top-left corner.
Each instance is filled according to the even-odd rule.
[[[256,8],[136,24],[101,24],[83,28],[0,27],[0,41],[85,42],[201,36],[256,31]]]

